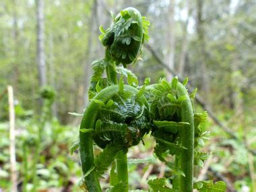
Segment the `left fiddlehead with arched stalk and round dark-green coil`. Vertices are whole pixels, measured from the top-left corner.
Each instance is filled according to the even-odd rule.
[[[79,146],[86,175],[84,183],[89,191],[97,189],[92,184],[97,183],[117,152],[127,152],[150,131],[149,115],[148,101],[143,92],[123,85],[123,81],[119,86],[101,90],[92,99],[81,123]],[[104,149],[95,160],[92,141]]]

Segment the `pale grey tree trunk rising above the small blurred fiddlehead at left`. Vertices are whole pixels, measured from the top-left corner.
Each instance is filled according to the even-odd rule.
[[[36,21],[37,21],[37,65],[39,86],[46,86],[46,69],[44,56],[44,0],[36,1]]]

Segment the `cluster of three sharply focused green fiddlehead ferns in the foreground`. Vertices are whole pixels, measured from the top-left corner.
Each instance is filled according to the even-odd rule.
[[[200,126],[207,113],[194,112],[196,89],[187,92],[188,79],[183,84],[178,77],[171,82],[160,79],[149,85],[147,78],[139,86],[137,77],[126,69],[141,54],[149,25],[137,9],[129,7],[113,17],[110,28],[100,27],[105,57],[92,63],[90,103],[80,125],[79,142],[71,146],[71,153],[79,148],[84,173],[79,186],[85,191],[102,191],[99,179],[112,166],[111,187],[106,191],[129,191],[127,151],[151,131],[156,140],[154,154],[172,170],[172,177],[148,181],[149,191],[226,191],[222,181],[193,181],[194,165],[203,166],[210,153],[198,149],[209,135]],[[94,143],[102,148],[96,157]],[[174,156],[174,162],[168,156]]]

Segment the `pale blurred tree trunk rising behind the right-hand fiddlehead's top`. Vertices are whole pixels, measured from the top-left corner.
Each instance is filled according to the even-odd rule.
[[[175,53],[175,21],[174,21],[174,11],[175,11],[175,0],[170,0],[168,6],[168,55],[167,64],[170,69],[174,69],[174,53]],[[167,79],[170,81],[173,77],[171,73],[167,72]]]

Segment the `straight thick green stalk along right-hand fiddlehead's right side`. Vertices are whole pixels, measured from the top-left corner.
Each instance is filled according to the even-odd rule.
[[[180,191],[193,191],[193,160],[194,160],[194,119],[193,107],[187,89],[183,84],[178,83],[178,96],[186,96],[186,100],[181,102],[181,121],[190,125],[181,131],[181,144],[187,148],[181,152],[181,170],[186,177],[181,176]]]

